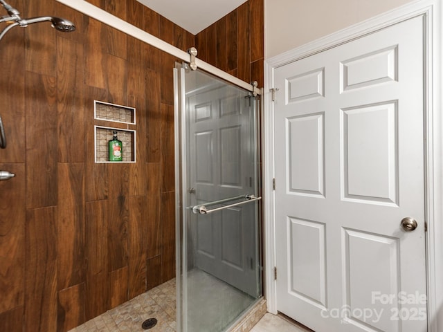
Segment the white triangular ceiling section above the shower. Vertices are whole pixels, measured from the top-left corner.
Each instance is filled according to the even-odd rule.
[[[197,35],[246,0],[137,0]]]

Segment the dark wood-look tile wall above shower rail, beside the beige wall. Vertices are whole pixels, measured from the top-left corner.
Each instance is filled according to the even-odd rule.
[[[248,0],[196,36],[197,57],[264,86],[264,0]]]

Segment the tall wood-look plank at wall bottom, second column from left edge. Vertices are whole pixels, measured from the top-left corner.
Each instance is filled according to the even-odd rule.
[[[57,330],[57,208],[26,212],[24,331]]]

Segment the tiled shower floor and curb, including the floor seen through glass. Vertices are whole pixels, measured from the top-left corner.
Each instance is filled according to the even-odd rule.
[[[228,322],[239,318],[238,313],[255,304],[253,297],[198,269],[188,273],[188,293],[192,293],[188,300],[188,317],[190,317],[188,331],[224,330]],[[266,312],[264,302],[260,306],[262,315],[264,315],[263,309]],[[248,326],[252,326],[251,324],[262,317],[255,315],[255,311],[252,311],[252,321],[245,322]],[[70,332],[145,331],[142,323],[152,317],[156,318],[157,324],[150,331],[177,331],[175,279],[138,295]],[[244,326],[236,327],[234,331],[249,331],[243,329]],[[240,327],[242,329],[239,329]]]

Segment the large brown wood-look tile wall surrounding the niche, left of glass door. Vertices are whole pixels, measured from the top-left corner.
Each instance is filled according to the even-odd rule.
[[[175,59],[55,0],[9,2],[77,31],[0,42],[0,169],[17,174],[0,181],[0,331],[68,331],[174,277]],[[136,0],[89,2],[195,46]],[[94,100],[136,107],[136,163],[94,162]]]

